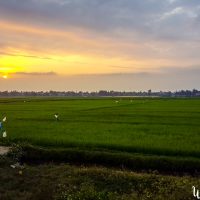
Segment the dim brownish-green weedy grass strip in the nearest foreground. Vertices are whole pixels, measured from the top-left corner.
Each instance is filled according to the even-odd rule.
[[[12,169],[0,158],[1,200],[192,200],[199,177],[134,173],[68,164],[27,165]]]

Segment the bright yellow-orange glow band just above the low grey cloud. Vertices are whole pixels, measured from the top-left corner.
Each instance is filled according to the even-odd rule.
[[[21,54],[19,56],[5,55],[0,58],[0,66],[3,66],[0,67],[0,73],[55,72],[60,75],[126,73],[138,72],[146,66],[146,63],[141,61],[123,60],[121,58],[87,55],[48,55],[48,57],[48,59],[45,59],[39,56],[22,56]]]

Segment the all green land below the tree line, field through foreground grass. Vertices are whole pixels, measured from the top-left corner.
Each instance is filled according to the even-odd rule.
[[[2,200],[189,200],[200,187],[198,98],[7,98],[4,116]]]

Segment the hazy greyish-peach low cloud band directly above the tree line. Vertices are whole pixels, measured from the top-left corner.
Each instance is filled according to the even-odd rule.
[[[195,66],[166,67],[158,71],[140,73],[82,74],[76,76],[34,76],[7,81],[0,79],[0,90],[23,91],[144,91],[159,90],[200,90],[200,69]]]

